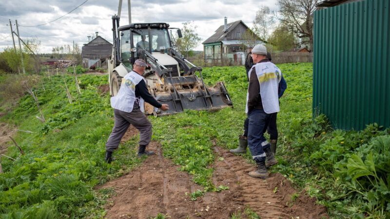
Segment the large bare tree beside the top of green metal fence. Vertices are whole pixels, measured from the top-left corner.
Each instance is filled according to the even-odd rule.
[[[301,39],[301,44],[309,44],[313,49],[313,12],[321,0],[278,0],[280,20]]]

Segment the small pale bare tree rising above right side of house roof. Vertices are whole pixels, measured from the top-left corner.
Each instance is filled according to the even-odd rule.
[[[264,5],[256,12],[256,17],[253,21],[254,33],[260,36],[263,41],[269,37],[272,25],[275,23],[272,14],[270,8]]]

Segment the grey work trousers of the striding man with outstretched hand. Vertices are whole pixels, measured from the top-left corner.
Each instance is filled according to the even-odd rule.
[[[147,146],[150,143],[152,139],[152,123],[139,110],[137,103],[134,103],[133,111],[131,112],[114,109],[114,115],[114,128],[106,142],[107,151],[114,151],[114,149],[118,148],[120,140],[130,124],[139,130],[139,145]]]

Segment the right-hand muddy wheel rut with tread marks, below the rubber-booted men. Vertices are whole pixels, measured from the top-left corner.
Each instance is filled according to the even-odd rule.
[[[254,164],[246,163],[240,156],[225,149],[214,148],[223,160],[217,158],[215,161],[213,183],[229,186],[229,190],[237,194],[235,200],[249,205],[260,218],[328,218],[326,208],[317,205],[315,199],[304,195],[304,192],[292,201],[291,195],[297,191],[281,174],[270,174],[267,180],[252,178],[248,172],[256,168]],[[275,187],[277,190],[274,192]]]

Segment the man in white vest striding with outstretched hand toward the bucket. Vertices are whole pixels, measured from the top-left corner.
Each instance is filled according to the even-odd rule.
[[[111,163],[113,151],[118,148],[120,140],[130,124],[139,130],[138,157],[153,155],[153,151],[145,150],[152,138],[152,124],[143,113],[144,101],[161,110],[169,110],[167,104],[160,104],[150,93],[144,77],[146,63],[137,59],[133,71],[122,78],[117,96],[111,97],[111,107],[114,108],[115,122],[110,137],[106,142],[105,161]]]

